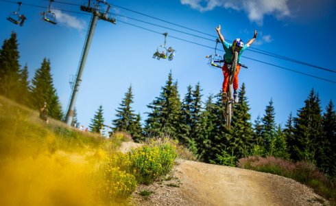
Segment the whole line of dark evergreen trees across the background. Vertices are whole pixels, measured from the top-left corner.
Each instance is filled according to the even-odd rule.
[[[12,32],[3,41],[0,50],[0,95],[39,109],[47,102],[49,116],[62,120],[64,113],[56,89],[53,87],[50,60],[43,59],[32,81],[28,81],[27,65],[19,65],[16,34]],[[187,87],[181,99],[178,82],[169,73],[158,97],[147,107],[149,112],[144,124],[141,115],[132,109],[132,86],[116,109],[112,132],[130,133],[134,141],[169,135],[186,146],[200,161],[235,165],[248,156],[274,156],[292,161],[309,161],[325,174],[336,176],[336,112],[332,100],[322,113],[318,93],[311,89],[304,106],[295,116],[289,114],[284,127],[275,122],[272,99],[265,113],[252,122],[250,107],[245,94],[245,84],[239,89],[239,104],[235,104],[232,126],[226,128],[221,91],[210,94],[202,102],[200,83]],[[99,133],[104,124],[104,109],[100,105],[90,129]],[[76,111],[73,124],[77,123]],[[77,124],[78,125],[78,124]],[[227,161],[230,159],[230,161]]]

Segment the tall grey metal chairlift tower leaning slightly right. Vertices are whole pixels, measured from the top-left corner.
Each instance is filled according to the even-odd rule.
[[[92,13],[93,17],[91,19],[90,29],[88,30],[88,34],[86,36],[86,42],[84,45],[84,51],[82,53],[82,59],[80,60],[80,66],[77,71],[75,84],[73,85],[71,100],[69,103],[69,108],[68,108],[67,116],[65,119],[68,125],[71,125],[71,122],[73,119],[73,111],[75,109],[75,102],[76,102],[78,90],[80,89],[80,82],[82,82],[82,73],[84,70],[86,57],[88,56],[88,50],[90,49],[91,41],[93,38],[93,33],[95,32],[97,21],[98,19],[101,19],[104,21],[109,21],[110,23],[114,23],[114,24],[116,22],[115,19],[108,17],[108,11],[110,10],[110,4],[107,3],[105,0],[104,1],[95,0],[95,2],[93,2],[92,4],[91,4],[91,1],[88,0],[88,5],[81,5],[80,10],[84,12]]]

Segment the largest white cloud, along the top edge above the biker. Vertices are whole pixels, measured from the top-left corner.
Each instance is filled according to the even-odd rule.
[[[276,18],[289,16],[289,0],[180,0],[183,5],[189,5],[195,10],[206,12],[216,7],[243,10],[250,21],[263,24],[263,16],[274,15]]]

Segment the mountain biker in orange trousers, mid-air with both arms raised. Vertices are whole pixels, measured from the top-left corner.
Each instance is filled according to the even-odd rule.
[[[223,71],[224,74],[224,82],[223,82],[223,93],[221,95],[221,99],[222,100],[226,100],[227,98],[227,92],[228,92],[228,65],[227,64],[231,64],[232,63],[232,57],[233,57],[233,53],[235,51],[239,52],[238,55],[238,60],[237,60],[237,67],[236,67],[236,73],[235,73],[235,78],[233,79],[233,89],[235,90],[233,93],[233,98],[235,103],[238,103],[238,96],[237,96],[237,89],[238,89],[238,73],[240,70],[240,58],[241,58],[241,54],[244,52],[245,49],[247,49],[248,47],[250,47],[250,45],[254,42],[254,40],[256,39],[256,35],[257,32],[256,30],[254,30],[254,36],[253,38],[248,41],[247,44],[244,45],[243,41],[241,41],[240,38],[236,38],[235,41],[232,42],[232,44],[227,43],[224,40],[224,36],[221,34],[221,25],[219,25],[217,28],[215,28],[219,39],[221,41],[221,43],[223,44],[223,48],[224,48],[224,65],[223,68],[221,69]]]

